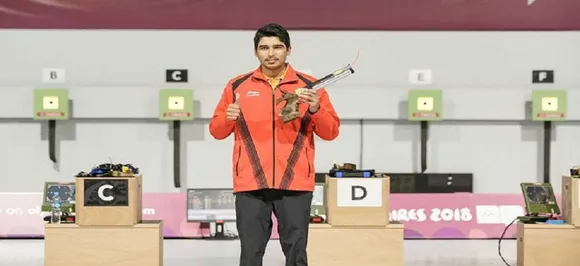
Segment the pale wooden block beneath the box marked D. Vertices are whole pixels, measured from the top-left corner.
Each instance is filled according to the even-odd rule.
[[[403,266],[403,225],[311,224],[307,252],[309,266]]]

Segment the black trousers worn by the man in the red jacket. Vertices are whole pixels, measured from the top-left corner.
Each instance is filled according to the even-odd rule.
[[[306,245],[312,192],[259,190],[236,193],[236,224],[242,245],[240,266],[262,266],[272,234],[272,213],[286,266],[307,266]]]

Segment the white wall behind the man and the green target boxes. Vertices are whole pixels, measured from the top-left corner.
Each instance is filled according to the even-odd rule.
[[[432,69],[444,116],[434,123],[430,172],[472,172],[476,192],[516,192],[539,180],[541,126],[526,119],[533,88],[580,96],[576,32],[291,32],[290,62],[316,76],[349,63],[355,75],[329,88],[341,136],[319,142],[316,168],[355,162],[379,171],[418,170],[418,125],[404,120],[407,71]],[[228,79],[257,67],[249,31],[0,31],[0,192],[39,191],[95,164],[131,162],[146,192],[176,191],[168,123],[156,121],[160,88],[194,90],[197,121],[186,123],[188,187],[231,186],[231,140],[216,141],[207,119]],[[67,83],[42,84],[45,67],[67,69]],[[190,69],[190,83],[164,84],[164,70]],[[553,69],[556,84],[533,86],[531,70]],[[58,165],[48,159],[45,123],[31,121],[32,89],[70,89],[75,120],[59,122]],[[580,127],[557,123],[552,180],[576,164]],[[109,159],[110,158],[110,159]],[[25,174],[22,169],[26,169]]]

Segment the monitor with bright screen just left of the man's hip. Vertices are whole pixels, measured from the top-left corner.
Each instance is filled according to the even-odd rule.
[[[235,195],[229,189],[188,189],[187,221],[235,221]]]

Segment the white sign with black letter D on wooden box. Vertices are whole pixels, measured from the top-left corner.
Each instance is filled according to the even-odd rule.
[[[383,183],[379,178],[341,178],[337,185],[338,207],[382,207]]]

